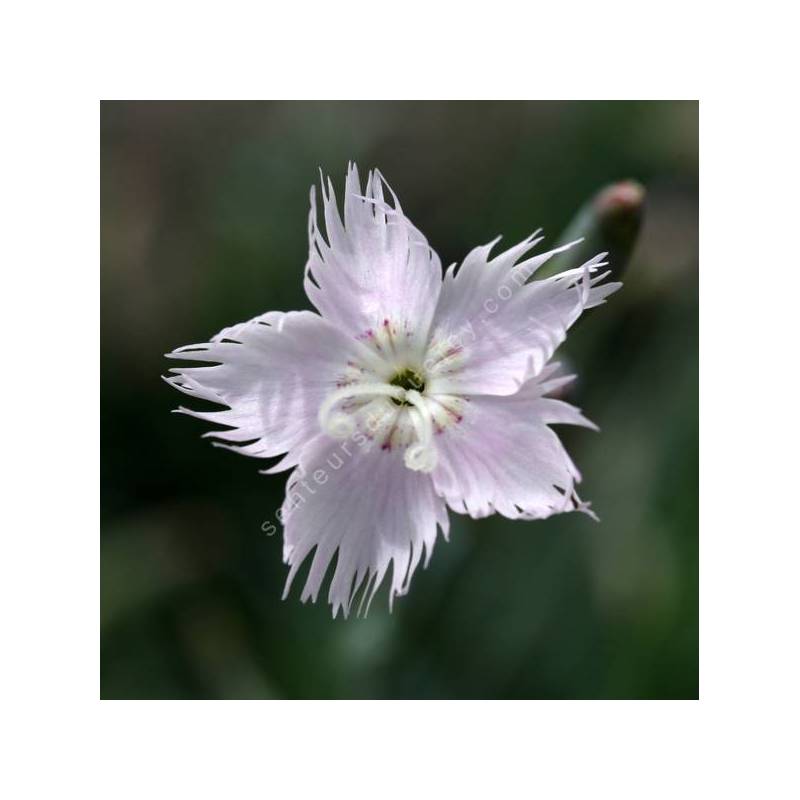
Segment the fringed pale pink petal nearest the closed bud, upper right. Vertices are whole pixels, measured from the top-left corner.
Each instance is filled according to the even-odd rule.
[[[608,275],[594,274],[604,266],[605,254],[577,269],[528,283],[549,258],[572,246],[519,262],[539,241],[534,234],[490,260],[496,244],[491,242],[473,250],[458,271],[447,271],[434,317],[432,350],[458,351],[459,356],[433,366],[431,391],[513,394],[541,372],[584,309],[604,302],[621,286],[597,285]]]

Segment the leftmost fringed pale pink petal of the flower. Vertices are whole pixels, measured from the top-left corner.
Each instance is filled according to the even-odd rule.
[[[269,312],[220,331],[210,342],[181,347],[168,357],[216,362],[170,370],[167,382],[224,411],[179,412],[230,430],[213,436],[236,452],[259,458],[288,453],[270,472],[297,464],[299,449],[319,434],[317,414],[342,379],[359,342],[310,311]]]

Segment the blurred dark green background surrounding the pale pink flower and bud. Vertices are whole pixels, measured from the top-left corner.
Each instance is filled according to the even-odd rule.
[[[101,104],[101,696],[694,698],[698,692],[695,102]],[[625,287],[560,356],[560,427],[602,522],[451,515],[366,619],[280,600],[285,475],[212,448],[163,353],[302,291],[309,186],[378,166],[447,265],[555,242],[608,182],[647,188]],[[324,590],[323,590],[324,596]]]

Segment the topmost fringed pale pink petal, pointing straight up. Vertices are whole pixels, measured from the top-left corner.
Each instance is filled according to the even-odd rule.
[[[384,202],[388,189],[393,206]],[[442,268],[425,237],[404,216],[397,196],[377,171],[362,195],[358,169],[347,171],[344,224],[333,184],[322,181],[326,239],[317,227],[311,190],[305,288],[323,317],[362,335],[391,320],[423,342],[442,283]]]

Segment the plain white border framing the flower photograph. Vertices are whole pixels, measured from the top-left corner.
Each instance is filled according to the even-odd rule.
[[[795,27],[770,2],[521,8],[9,12],[6,796],[796,793]],[[100,703],[98,98],[697,96],[702,701]]]

